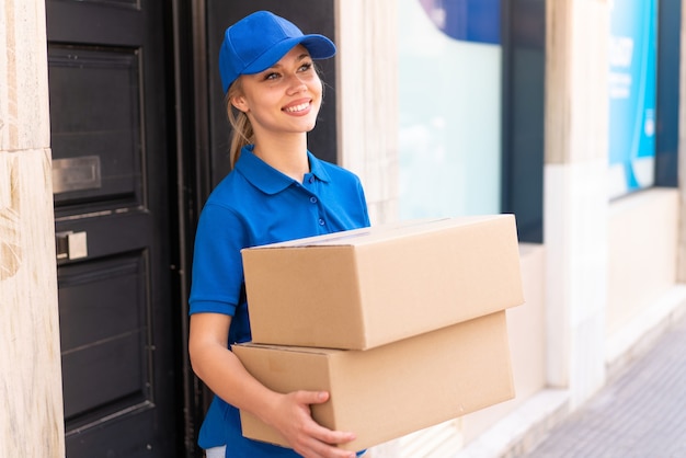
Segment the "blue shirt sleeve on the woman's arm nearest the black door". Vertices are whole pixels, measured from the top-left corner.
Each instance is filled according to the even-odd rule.
[[[247,234],[229,208],[208,204],[201,214],[191,283],[190,313],[236,314],[243,284],[241,249]]]

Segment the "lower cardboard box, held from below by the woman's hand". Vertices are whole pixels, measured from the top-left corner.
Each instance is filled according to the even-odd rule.
[[[312,417],[359,450],[514,397],[505,311],[367,351],[240,344],[249,373],[278,392],[325,390]],[[243,435],[287,445],[241,411]]]

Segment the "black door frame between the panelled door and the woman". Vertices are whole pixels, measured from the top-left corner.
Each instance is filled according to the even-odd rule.
[[[207,130],[207,69],[198,56],[206,55],[205,0],[171,0],[167,3],[169,30],[168,62],[169,98],[176,107],[170,116],[170,147],[174,149],[175,167],[171,168],[176,183],[176,198],[171,208],[175,221],[176,310],[179,310],[179,375],[183,397],[180,413],[185,457],[202,457],[197,435],[210,393],[194,375],[188,357],[188,294],[195,227],[202,205],[209,195],[209,140]],[[174,204],[174,199],[170,199]],[[174,243],[172,243],[174,245]]]

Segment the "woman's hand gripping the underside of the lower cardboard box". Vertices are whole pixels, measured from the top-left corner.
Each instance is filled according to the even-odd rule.
[[[283,394],[274,405],[271,424],[305,458],[354,458],[354,451],[336,448],[355,439],[355,434],[331,431],[312,420],[310,405],[329,400],[325,391],[294,391]]]

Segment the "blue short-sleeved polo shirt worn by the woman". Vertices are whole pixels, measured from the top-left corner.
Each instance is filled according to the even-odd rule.
[[[193,255],[191,314],[233,317],[229,343],[251,340],[243,248],[369,226],[359,179],[308,152],[302,183],[272,168],[244,147],[235,169],[213,191],[201,214]],[[307,287],[304,285],[304,287]],[[227,458],[298,457],[241,435],[238,409],[215,397],[198,444],[227,445]]]

